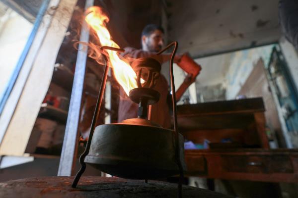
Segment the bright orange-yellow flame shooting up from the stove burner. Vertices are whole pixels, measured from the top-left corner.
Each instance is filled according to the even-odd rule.
[[[113,48],[119,48],[119,46],[111,39],[111,35],[106,28],[106,23],[109,22],[108,16],[102,11],[100,7],[89,7],[85,16],[86,22],[96,32],[100,44],[102,46],[109,46]],[[116,51],[107,50],[109,62],[113,68],[114,75],[118,83],[122,86],[125,93],[129,95],[129,92],[137,88],[137,75],[132,67],[121,60]]]

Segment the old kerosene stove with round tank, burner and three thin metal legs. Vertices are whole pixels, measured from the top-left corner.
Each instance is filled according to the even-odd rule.
[[[154,105],[160,94],[153,88],[161,69],[160,63],[153,58],[138,58],[131,67],[137,74],[137,85],[130,91],[129,98],[138,103],[138,117],[121,123],[103,124],[95,127],[105,89],[109,67],[105,66],[95,112],[92,119],[89,139],[79,158],[81,168],[76,174],[73,187],[85,170],[86,164],[114,176],[127,179],[157,179],[180,175],[178,196],[182,196],[184,162],[183,136],[177,130],[175,85],[173,76],[173,58],[178,44],[173,42],[165,50],[174,46],[170,60],[170,79],[173,103],[174,130],[162,128],[148,119],[149,105]],[[123,51],[111,47],[102,50]],[[106,56],[103,54],[105,60]]]

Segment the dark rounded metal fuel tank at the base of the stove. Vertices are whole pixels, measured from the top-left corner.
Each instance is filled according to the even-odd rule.
[[[185,170],[181,134],[179,149]],[[160,127],[99,125],[94,130],[85,162],[110,175],[127,179],[156,179],[179,174],[174,132]]]

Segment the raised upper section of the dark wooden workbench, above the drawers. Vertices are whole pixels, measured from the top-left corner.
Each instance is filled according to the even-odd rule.
[[[196,143],[229,138],[244,147],[269,148],[264,111],[262,98],[181,105],[179,132]]]

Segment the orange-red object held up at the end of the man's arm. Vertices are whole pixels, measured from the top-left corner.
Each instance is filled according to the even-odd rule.
[[[201,65],[196,63],[188,54],[183,54],[177,63],[186,73],[191,74],[192,78],[196,78],[202,70]]]

